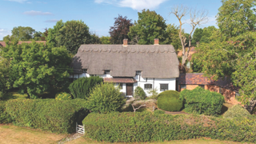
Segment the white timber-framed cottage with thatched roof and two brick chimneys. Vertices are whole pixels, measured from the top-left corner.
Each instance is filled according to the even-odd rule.
[[[99,76],[104,82],[114,82],[122,93],[133,96],[137,86],[148,90],[176,90],[179,76],[178,58],[174,46],[159,45],[82,45],[75,54],[71,79]]]

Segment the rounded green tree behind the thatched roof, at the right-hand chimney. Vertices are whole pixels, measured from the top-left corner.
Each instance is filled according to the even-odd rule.
[[[138,41],[140,45],[154,44],[154,38],[159,43],[166,43],[166,20],[155,11],[142,10],[138,12],[138,21],[130,26],[128,36],[131,40]]]

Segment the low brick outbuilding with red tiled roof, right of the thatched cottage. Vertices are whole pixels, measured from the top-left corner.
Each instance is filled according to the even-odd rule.
[[[210,91],[215,91],[224,96],[225,101],[231,104],[238,104],[236,97],[240,96],[238,94],[239,88],[234,86],[230,78],[226,77],[224,79],[218,79],[217,81],[210,80],[206,78],[202,73],[186,73],[180,74],[178,81],[178,91],[184,89],[193,90],[197,86]]]

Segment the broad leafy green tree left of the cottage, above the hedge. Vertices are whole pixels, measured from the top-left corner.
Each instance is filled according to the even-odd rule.
[[[9,43],[1,50],[2,58],[10,61],[9,81],[30,98],[62,88],[70,76],[70,55],[65,47],[32,42]]]

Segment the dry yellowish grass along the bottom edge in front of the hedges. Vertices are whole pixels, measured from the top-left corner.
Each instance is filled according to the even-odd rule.
[[[34,143],[58,143],[61,139],[68,137],[69,134],[53,134],[42,130],[18,127],[13,125],[0,125],[0,142],[1,144],[34,144]],[[110,142],[95,142],[89,138],[78,138],[65,144],[111,144]],[[238,144],[240,142],[228,142],[212,140],[209,138],[170,141],[170,142],[146,142],[147,144]],[[121,144],[121,143],[120,143]],[[136,143],[137,144],[137,143]]]

